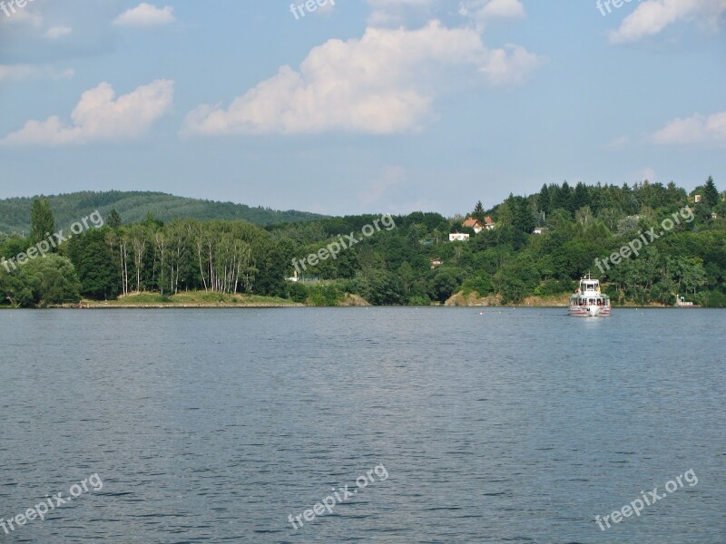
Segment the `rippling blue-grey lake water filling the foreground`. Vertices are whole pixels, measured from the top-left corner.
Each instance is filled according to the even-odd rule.
[[[726,311],[565,314],[2,311],[0,542],[726,542]]]

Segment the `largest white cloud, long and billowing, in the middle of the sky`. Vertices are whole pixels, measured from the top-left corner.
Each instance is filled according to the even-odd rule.
[[[299,72],[277,75],[229,108],[204,105],[187,116],[199,134],[415,131],[431,114],[437,88],[454,83],[446,70],[464,67],[483,82],[521,83],[542,60],[524,48],[490,50],[474,29],[368,28],[362,38],[315,47]]]

